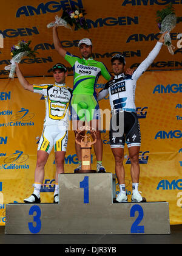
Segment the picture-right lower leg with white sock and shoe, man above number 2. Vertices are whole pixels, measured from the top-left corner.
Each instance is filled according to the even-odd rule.
[[[129,148],[129,157],[131,161],[131,177],[132,177],[132,201],[141,202],[142,196],[138,191],[138,184],[140,179],[140,165],[139,165],[140,146],[133,146]]]

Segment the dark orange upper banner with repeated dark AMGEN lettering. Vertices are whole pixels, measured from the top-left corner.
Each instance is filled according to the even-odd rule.
[[[52,63],[63,62],[69,73],[72,68],[55,51],[52,29],[47,24],[61,16],[62,11],[72,7],[86,10],[87,30],[74,30],[58,27],[62,47],[74,55],[79,55],[78,41],[90,38],[93,43],[93,57],[103,62],[111,71],[110,58],[116,53],[126,57],[127,67],[136,68],[149,54],[157,40],[160,30],[156,13],[168,5],[170,0],[24,0],[4,1],[1,4],[1,30],[4,38],[0,49],[0,78],[8,77],[4,67],[10,64],[10,49],[20,40],[31,40],[30,47],[38,52],[36,59],[24,57],[25,76],[50,75]],[[181,16],[181,1],[172,1],[175,13]],[[7,11],[8,10],[8,11]],[[7,19],[8,12],[8,19]],[[5,22],[4,22],[5,21]],[[172,44],[175,47],[171,55],[166,46],[153,61],[149,69],[181,69],[182,39],[181,23],[171,31]],[[0,37],[1,38],[1,37]],[[1,40],[2,41],[2,40]]]

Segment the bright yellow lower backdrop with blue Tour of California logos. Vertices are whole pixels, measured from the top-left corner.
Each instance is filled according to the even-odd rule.
[[[140,190],[147,201],[169,202],[170,224],[182,224],[182,102],[181,71],[146,72],[136,86],[136,110],[141,126]],[[52,77],[28,78],[31,84],[50,84]],[[67,77],[72,87],[73,77]],[[101,78],[96,87],[103,88]],[[18,79],[1,79],[1,152],[0,152],[0,219],[5,221],[5,204],[23,202],[33,191],[36,149],[42,133],[45,115],[44,100],[36,93],[25,91]],[[109,99],[99,102],[104,111],[110,109]],[[103,164],[107,172],[115,173],[109,145],[107,123],[101,130]],[[71,126],[71,125],[70,125]],[[65,172],[73,172],[78,164],[74,149],[74,133],[69,131]],[[126,189],[132,191],[130,160],[125,150]],[[96,168],[92,150],[92,168]],[[45,166],[44,183],[54,183],[54,152]],[[41,201],[52,202],[53,185],[42,186]],[[118,185],[116,190],[118,193]]]

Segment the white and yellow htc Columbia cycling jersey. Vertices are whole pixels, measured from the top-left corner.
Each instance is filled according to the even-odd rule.
[[[68,114],[72,89],[65,84],[33,85],[33,92],[45,99],[44,126],[58,125],[68,127]]]

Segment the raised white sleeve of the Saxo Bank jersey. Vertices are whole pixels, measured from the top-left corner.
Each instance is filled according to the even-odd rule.
[[[157,44],[155,44],[155,47],[152,49],[152,51],[149,53],[147,58],[136,68],[135,72],[132,75],[132,79],[137,80],[141,74],[146,71],[147,68],[152,64],[153,60],[157,57],[158,53],[160,52],[160,49],[162,47],[163,43],[160,43],[159,41]]]

